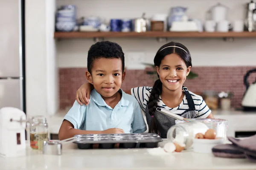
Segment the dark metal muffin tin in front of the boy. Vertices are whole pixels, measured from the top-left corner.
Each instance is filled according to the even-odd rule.
[[[74,143],[79,149],[92,149],[93,144],[99,144],[101,149],[114,148],[115,144],[119,144],[119,148],[153,148],[163,141],[155,133],[88,134],[76,135],[75,138],[77,140]]]

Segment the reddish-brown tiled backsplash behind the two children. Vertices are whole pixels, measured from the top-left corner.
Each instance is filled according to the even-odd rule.
[[[244,75],[255,67],[193,67],[192,71],[198,74],[195,79],[187,79],[184,86],[189,91],[200,94],[207,90],[231,91],[234,93],[232,106],[240,108],[245,91]],[[76,100],[76,90],[86,82],[87,68],[59,68],[60,109],[73,105]],[[256,74],[249,77],[249,82],[255,81]],[[127,90],[138,86],[152,86],[154,76],[146,74],[145,70],[126,70],[122,89]]]

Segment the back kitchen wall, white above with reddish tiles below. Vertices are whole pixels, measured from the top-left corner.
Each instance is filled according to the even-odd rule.
[[[168,13],[172,6],[189,7],[187,14],[191,18],[205,20],[207,10],[221,2],[229,7],[228,20],[244,19],[245,3],[249,0],[57,0],[57,6],[77,5],[77,16],[104,16],[111,18],[135,18],[142,12],[147,17],[156,13]],[[200,7],[199,7],[200,6]],[[131,12],[132,11],[132,12]],[[166,42],[157,42],[153,38],[108,38],[119,43],[125,52],[125,65],[133,52],[143,52],[146,62],[153,63],[156,51]],[[232,106],[239,108],[245,88],[243,76],[247,70],[256,67],[256,38],[236,38],[226,42],[221,38],[169,38],[169,41],[181,42],[192,54],[192,71],[199,74],[197,79],[186,80],[189,90],[202,93],[206,90],[232,91],[235,96]],[[75,100],[76,90],[85,82],[84,72],[87,65],[87,51],[92,39],[60,40],[57,43],[57,58],[60,83],[61,109],[70,107]],[[127,70],[123,89],[136,86],[153,85],[154,79],[144,70]],[[250,82],[255,78],[250,77]]]

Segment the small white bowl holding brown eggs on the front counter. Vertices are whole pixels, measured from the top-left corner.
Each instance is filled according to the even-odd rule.
[[[212,153],[212,147],[224,143],[223,138],[218,139],[193,139],[193,150],[197,153]]]

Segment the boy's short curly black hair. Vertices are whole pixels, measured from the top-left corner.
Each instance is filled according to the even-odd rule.
[[[93,44],[87,56],[87,69],[91,73],[93,62],[99,58],[119,58],[122,61],[122,72],[125,69],[125,55],[120,45],[115,42],[101,41]]]

